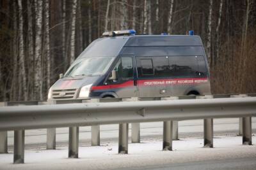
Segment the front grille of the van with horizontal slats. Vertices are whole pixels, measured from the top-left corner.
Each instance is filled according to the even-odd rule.
[[[76,89],[52,90],[53,99],[73,99],[76,95]]]

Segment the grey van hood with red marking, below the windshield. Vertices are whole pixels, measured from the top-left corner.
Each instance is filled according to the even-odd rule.
[[[99,76],[77,76],[75,78],[65,77],[61,78],[54,85],[52,90],[65,90],[65,89],[79,89],[84,85],[90,85],[98,80]]]

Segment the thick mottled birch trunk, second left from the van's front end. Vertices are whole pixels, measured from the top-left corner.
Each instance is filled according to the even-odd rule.
[[[36,7],[36,44],[35,44],[35,99],[42,99],[42,0],[35,3]]]

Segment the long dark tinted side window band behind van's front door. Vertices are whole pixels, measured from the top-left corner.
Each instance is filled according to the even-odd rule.
[[[137,57],[140,78],[207,76],[204,56]]]

